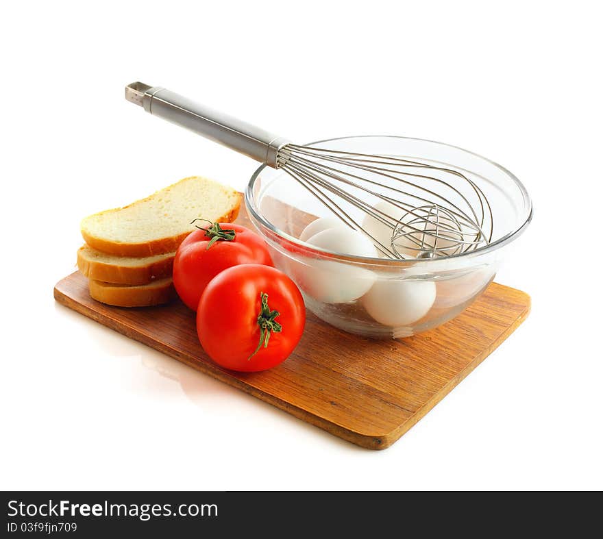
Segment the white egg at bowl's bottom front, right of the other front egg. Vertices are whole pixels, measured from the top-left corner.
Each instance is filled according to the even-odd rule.
[[[380,324],[408,326],[423,318],[436,299],[433,281],[376,281],[362,297],[362,305]]]

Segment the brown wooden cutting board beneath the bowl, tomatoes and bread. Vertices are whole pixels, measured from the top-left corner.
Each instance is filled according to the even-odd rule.
[[[245,224],[242,216],[239,221]],[[308,312],[286,362],[263,373],[234,373],[204,353],[195,316],[180,301],[119,308],[90,298],[75,272],[56,284],[56,301],[198,371],[267,401],[335,436],[385,449],[415,425],[530,312],[528,294],[492,283],[465,312],[404,340],[347,334]]]

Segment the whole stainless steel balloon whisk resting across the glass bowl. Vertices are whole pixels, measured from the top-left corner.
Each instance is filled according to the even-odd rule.
[[[147,112],[280,168],[387,258],[433,258],[491,242],[488,199],[466,173],[438,162],[295,145],[158,86],[125,98]]]

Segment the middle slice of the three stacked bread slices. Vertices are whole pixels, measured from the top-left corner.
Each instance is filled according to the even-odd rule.
[[[90,279],[118,284],[147,284],[171,277],[175,253],[144,258],[108,255],[84,245],[77,251],[77,268]]]

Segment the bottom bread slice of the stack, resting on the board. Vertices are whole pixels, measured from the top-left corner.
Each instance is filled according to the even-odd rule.
[[[118,307],[160,305],[171,301],[176,295],[171,277],[139,286],[106,283],[90,279],[88,288],[90,289],[90,296],[97,301]]]

